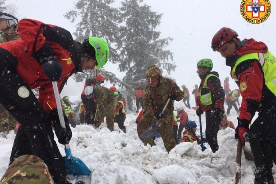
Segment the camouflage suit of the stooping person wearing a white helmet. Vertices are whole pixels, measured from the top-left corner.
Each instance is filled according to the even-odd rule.
[[[96,115],[98,125],[95,125],[95,127],[99,127],[104,117],[106,117],[107,128],[113,131],[117,97],[108,88],[96,85],[94,86],[93,98],[97,101],[98,106],[98,113]]]

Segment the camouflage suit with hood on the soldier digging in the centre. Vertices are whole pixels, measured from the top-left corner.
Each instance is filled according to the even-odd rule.
[[[149,79],[154,76],[159,76],[161,81],[156,87],[152,87],[149,84],[146,86],[143,101],[147,112],[144,114],[137,125],[139,138],[144,142],[144,144],[148,143],[151,146],[155,145],[154,140],[151,140],[149,142],[143,140],[140,136],[141,133],[152,123],[156,122],[156,120],[153,118],[154,114],[162,112],[165,104],[168,101],[169,94],[175,93],[177,101],[182,100],[184,97],[184,93],[177,86],[177,84],[171,79],[163,78],[161,71],[155,65],[148,67],[146,78]],[[159,123],[160,135],[168,152],[171,151],[171,149],[174,148],[176,145],[171,126],[171,117],[173,116],[173,110],[174,101],[171,101],[164,112],[165,117],[161,119]]]

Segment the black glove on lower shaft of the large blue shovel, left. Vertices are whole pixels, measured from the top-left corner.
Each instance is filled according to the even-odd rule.
[[[72,132],[71,132],[71,128],[69,126],[67,117],[63,116],[66,128],[62,128],[60,125],[57,109],[53,109],[50,112],[50,117],[53,121],[53,127],[55,128],[55,133],[59,140],[59,143],[60,144],[69,144],[71,137],[72,137]]]

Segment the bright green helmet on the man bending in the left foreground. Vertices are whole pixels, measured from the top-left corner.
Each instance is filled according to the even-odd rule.
[[[109,58],[109,48],[105,40],[99,37],[89,36],[89,38],[82,43],[82,47],[86,54],[92,59],[96,59],[96,68],[99,69],[105,65]]]

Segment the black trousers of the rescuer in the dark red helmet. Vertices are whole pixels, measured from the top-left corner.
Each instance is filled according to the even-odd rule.
[[[255,158],[255,184],[274,183],[271,172],[275,160],[276,103],[263,107],[249,129],[249,142]]]

